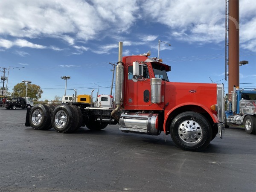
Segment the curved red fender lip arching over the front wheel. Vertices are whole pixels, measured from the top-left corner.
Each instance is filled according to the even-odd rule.
[[[189,103],[183,103],[182,105],[177,105],[175,108],[172,108],[172,110],[169,111],[169,112],[165,115],[165,119],[164,119],[164,122],[163,122],[163,131],[164,131],[164,133],[166,133],[167,131],[169,131],[169,130],[168,130],[168,127],[166,127],[166,126],[169,125],[168,120],[169,120],[169,117],[172,115],[172,112],[174,112],[174,111],[175,111],[176,109],[178,109],[178,108],[186,107],[186,106],[197,106],[197,107],[200,107],[200,108],[204,109],[204,111],[206,111],[206,112],[209,114],[209,116],[212,118],[212,121],[215,122],[215,123],[218,123],[218,118],[217,118],[217,116],[216,116],[211,110],[209,110],[208,108],[206,108],[204,105],[198,105],[198,103],[191,103],[191,102],[189,102]],[[182,111],[182,112],[184,112],[184,111]],[[166,130],[166,128],[167,128],[167,130]]]

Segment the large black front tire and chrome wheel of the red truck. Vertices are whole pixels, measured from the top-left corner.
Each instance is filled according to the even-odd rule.
[[[209,121],[200,113],[183,112],[177,115],[170,126],[173,142],[186,151],[201,151],[212,140]]]

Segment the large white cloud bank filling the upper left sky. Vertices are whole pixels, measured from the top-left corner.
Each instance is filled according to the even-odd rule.
[[[70,45],[75,41],[71,35],[87,41],[105,29],[129,29],[138,10],[136,0],[6,0],[0,7],[0,34],[18,38],[58,36]]]

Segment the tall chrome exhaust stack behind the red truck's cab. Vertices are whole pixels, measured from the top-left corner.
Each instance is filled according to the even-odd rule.
[[[118,65],[116,66],[116,93],[115,104],[116,108],[111,112],[111,116],[119,121],[120,116],[116,113],[121,109],[121,105],[124,103],[124,66],[122,65],[122,42],[119,42],[119,56]]]

